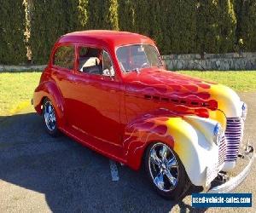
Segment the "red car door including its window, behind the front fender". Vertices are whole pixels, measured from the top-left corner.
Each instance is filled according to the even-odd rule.
[[[108,52],[98,47],[76,48],[73,128],[97,140],[120,146],[120,89]]]

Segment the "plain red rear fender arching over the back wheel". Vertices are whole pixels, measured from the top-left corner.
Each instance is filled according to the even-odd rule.
[[[33,95],[33,106],[38,114],[42,114],[44,98],[48,97],[55,107],[59,124],[64,124],[64,101],[60,89],[54,82],[43,82],[38,85]]]

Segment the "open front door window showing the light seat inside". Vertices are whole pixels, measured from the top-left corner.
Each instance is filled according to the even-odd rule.
[[[79,47],[79,72],[95,75],[106,75],[112,67],[111,59],[103,49]]]

